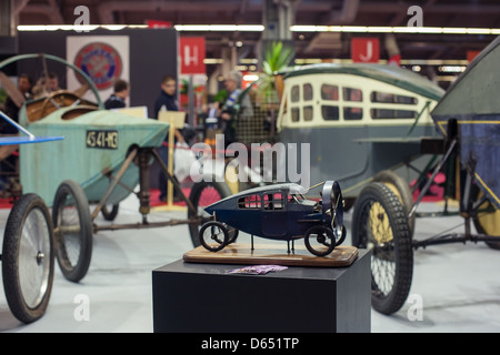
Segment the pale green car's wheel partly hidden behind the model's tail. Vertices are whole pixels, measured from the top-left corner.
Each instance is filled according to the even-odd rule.
[[[189,224],[189,233],[194,247],[200,246],[200,226],[210,220],[210,215],[204,212],[204,207],[230,195],[231,191],[224,182],[202,181],[192,186],[189,200],[193,204],[194,211],[188,210],[188,219],[201,217],[199,223]],[[236,237],[230,235],[230,240],[236,240]]]

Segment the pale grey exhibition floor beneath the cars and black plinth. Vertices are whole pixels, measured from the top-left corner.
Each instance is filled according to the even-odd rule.
[[[437,210],[439,206],[424,203],[420,209]],[[121,203],[117,222],[139,221],[137,211],[138,201],[130,196]],[[8,212],[0,211],[2,224]],[[149,219],[162,221],[173,216],[184,217],[184,213],[154,212]],[[348,231],[351,213],[347,213]],[[420,219],[416,225],[416,239],[426,239],[456,225],[459,225],[456,231],[462,232],[462,222],[460,217]],[[106,222],[99,217],[98,223]],[[241,240],[246,237],[240,236]],[[264,240],[256,239],[256,243],[259,242]],[[349,236],[344,243],[350,243]],[[50,304],[41,320],[29,325],[19,323],[11,315],[2,291],[0,331],[150,333],[153,331],[151,271],[181,258],[191,248],[186,225],[100,232],[94,235],[90,270],[79,284],[66,281],[57,265]],[[392,316],[372,311],[371,331],[500,332],[499,257],[500,251],[491,250],[483,243],[434,245],[418,250],[414,253],[410,294],[413,295],[411,300],[422,301],[422,320],[409,320],[408,311],[412,304],[407,303]],[[202,292],[200,290],[200,296]],[[82,300],[88,301],[89,305],[88,318],[83,320]]]

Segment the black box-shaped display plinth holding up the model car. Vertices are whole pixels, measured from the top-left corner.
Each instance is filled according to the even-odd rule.
[[[154,332],[370,332],[370,253],[349,267],[227,274],[242,265],[177,261],[152,272]]]

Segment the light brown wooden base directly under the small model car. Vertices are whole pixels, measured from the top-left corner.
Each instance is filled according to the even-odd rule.
[[[287,253],[287,243],[281,244],[230,244],[219,252],[210,252],[198,246],[183,255],[184,262],[244,265],[284,265],[284,266],[322,266],[344,267],[352,264],[358,256],[356,246],[339,245],[327,256],[312,255],[306,246],[294,246]]]

